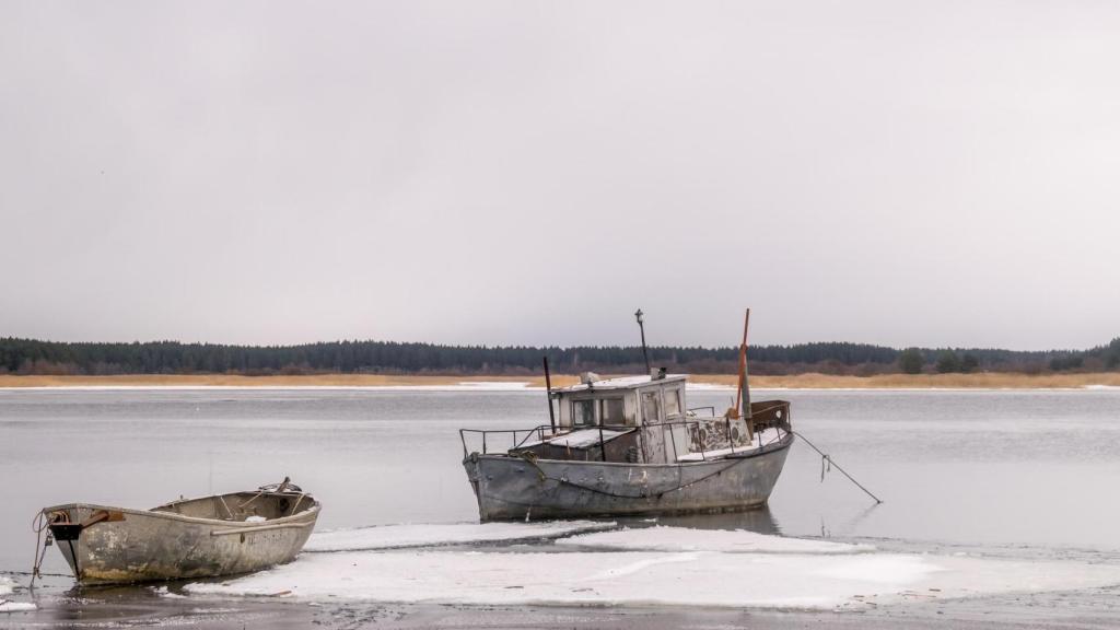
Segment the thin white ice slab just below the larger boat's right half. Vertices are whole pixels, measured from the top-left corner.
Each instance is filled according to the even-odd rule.
[[[617,552],[722,552],[728,554],[853,554],[874,552],[871,545],[766,536],[754,531],[647,527],[580,534],[557,545]]]

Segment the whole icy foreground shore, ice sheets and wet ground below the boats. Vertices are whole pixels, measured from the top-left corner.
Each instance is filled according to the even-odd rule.
[[[81,614],[103,620],[99,627],[129,628],[139,610],[159,626],[199,630],[865,630],[946,621],[1007,630],[1071,619],[1103,629],[1120,621],[1120,566],[1108,563],[880,552],[745,530],[595,521],[396,525],[319,532],[307,552],[248,576],[138,585],[104,596],[96,590],[65,596],[71,578],[47,577],[43,586],[53,594],[36,597],[39,610],[21,602],[0,622],[31,628]],[[15,585],[0,576],[0,594]],[[1071,600],[1076,604],[1068,606]]]

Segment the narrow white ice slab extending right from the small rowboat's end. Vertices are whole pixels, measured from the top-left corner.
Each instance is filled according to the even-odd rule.
[[[311,535],[305,552],[357,552],[503,543],[559,538],[570,534],[597,531],[616,527],[614,522],[590,520],[544,522],[486,522],[448,525],[386,525],[361,529],[339,529]]]

